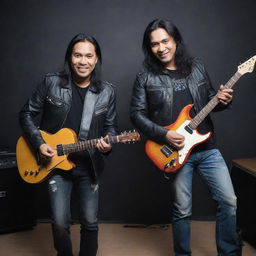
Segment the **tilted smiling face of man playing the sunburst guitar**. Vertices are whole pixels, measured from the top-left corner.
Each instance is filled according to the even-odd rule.
[[[165,68],[176,69],[176,42],[163,28],[158,28],[150,34],[150,44],[153,55],[160,60]]]

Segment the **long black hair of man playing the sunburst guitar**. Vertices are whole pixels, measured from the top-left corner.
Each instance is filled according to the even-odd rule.
[[[159,74],[165,69],[164,64],[153,55],[151,50],[150,34],[158,28],[165,29],[176,42],[175,65],[177,67],[177,71],[184,76],[189,75],[192,69],[193,58],[190,57],[178,28],[167,19],[153,20],[148,24],[144,32],[142,43],[144,67],[155,74]]]

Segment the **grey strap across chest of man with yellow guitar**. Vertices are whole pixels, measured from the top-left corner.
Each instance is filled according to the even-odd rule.
[[[88,132],[91,126],[92,115],[94,112],[94,107],[99,94],[91,90],[88,90],[84,99],[84,108],[82,114],[82,120],[80,125],[80,131],[78,134],[79,140],[86,140],[88,137]]]

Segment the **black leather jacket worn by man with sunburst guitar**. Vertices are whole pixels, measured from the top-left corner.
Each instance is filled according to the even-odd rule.
[[[216,94],[211,85],[204,65],[199,60],[194,60],[192,72],[185,77],[190,90],[195,112],[198,113]],[[173,78],[168,72],[160,75],[151,72],[141,72],[133,87],[130,117],[135,127],[147,137],[157,142],[166,143],[167,129],[163,126],[171,124],[173,106]],[[218,104],[214,111],[224,109]],[[205,120],[210,130],[213,125],[210,117]]]

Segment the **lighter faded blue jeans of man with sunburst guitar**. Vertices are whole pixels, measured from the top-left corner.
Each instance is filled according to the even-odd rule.
[[[206,182],[217,202],[216,245],[218,256],[240,255],[236,232],[236,196],[228,168],[217,149],[191,154],[173,182],[173,239],[176,256],[190,256],[190,216],[192,177],[196,171]]]

